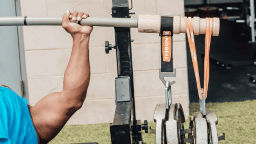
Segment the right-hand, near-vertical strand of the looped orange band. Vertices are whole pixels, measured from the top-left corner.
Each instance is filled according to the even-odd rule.
[[[205,55],[204,55],[204,94],[207,97],[209,85],[209,54],[211,45],[211,33],[213,27],[213,18],[206,18],[206,35],[205,35]]]

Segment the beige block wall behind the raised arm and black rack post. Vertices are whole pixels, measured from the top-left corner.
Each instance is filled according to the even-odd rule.
[[[112,0],[21,0],[22,16],[61,17],[67,9],[83,11],[91,17],[111,17]],[[179,14],[184,16],[184,0],[133,0],[139,14]],[[165,103],[165,86],[159,79],[159,34],[138,33],[131,29],[135,105],[137,119],[153,121],[157,103]],[[36,104],[45,95],[61,92],[63,74],[69,61],[72,38],[61,26],[24,26],[23,38],[27,68],[29,103]],[[117,77],[115,50],[105,54],[105,41],[114,44],[113,27],[94,27],[90,37],[91,79],[83,107],[67,122],[95,124],[113,121]],[[173,36],[174,67],[177,77],[172,86],[173,103],[181,103],[189,114],[185,34]]]

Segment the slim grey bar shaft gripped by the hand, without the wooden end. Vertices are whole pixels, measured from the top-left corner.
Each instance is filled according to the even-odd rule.
[[[0,26],[25,25],[24,17],[0,17]],[[70,20],[70,22],[73,22]],[[27,25],[62,25],[60,17],[27,17]],[[75,23],[78,23],[76,21]],[[101,26],[101,27],[138,27],[138,19],[133,18],[91,18],[81,20],[81,25]]]

